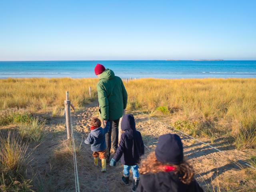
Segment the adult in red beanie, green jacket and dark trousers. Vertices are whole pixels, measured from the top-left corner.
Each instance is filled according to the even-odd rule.
[[[118,147],[118,124],[126,108],[128,96],[122,79],[115,76],[112,70],[97,64],[94,72],[100,78],[97,91],[101,118],[105,123],[107,120],[110,121],[110,129],[106,134],[106,156],[109,161],[111,137],[113,137],[112,148],[115,153]]]

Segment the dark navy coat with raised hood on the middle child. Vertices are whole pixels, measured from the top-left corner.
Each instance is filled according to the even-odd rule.
[[[122,118],[121,128],[124,133],[121,135],[119,146],[114,155],[114,160],[124,165],[136,165],[144,154],[144,143],[140,132],[136,131],[135,120],[132,114],[126,114]]]

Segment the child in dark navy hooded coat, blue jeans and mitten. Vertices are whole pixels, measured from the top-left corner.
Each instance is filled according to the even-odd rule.
[[[110,166],[116,166],[116,162],[121,158],[121,163],[124,165],[122,181],[126,185],[129,184],[130,169],[132,169],[132,191],[135,191],[139,184],[138,163],[144,154],[144,143],[140,132],[136,131],[135,120],[132,114],[123,116],[121,129],[125,132],[121,135],[119,146],[114,158],[111,159]]]

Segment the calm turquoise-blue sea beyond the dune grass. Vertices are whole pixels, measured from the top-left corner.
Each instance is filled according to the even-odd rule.
[[[96,77],[103,64],[121,78],[256,78],[256,61],[12,61],[0,62],[0,78]]]

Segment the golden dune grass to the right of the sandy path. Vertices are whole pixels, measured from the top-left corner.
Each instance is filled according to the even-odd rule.
[[[256,147],[256,79],[140,79],[128,82],[130,110],[158,110],[193,136],[228,135]]]

